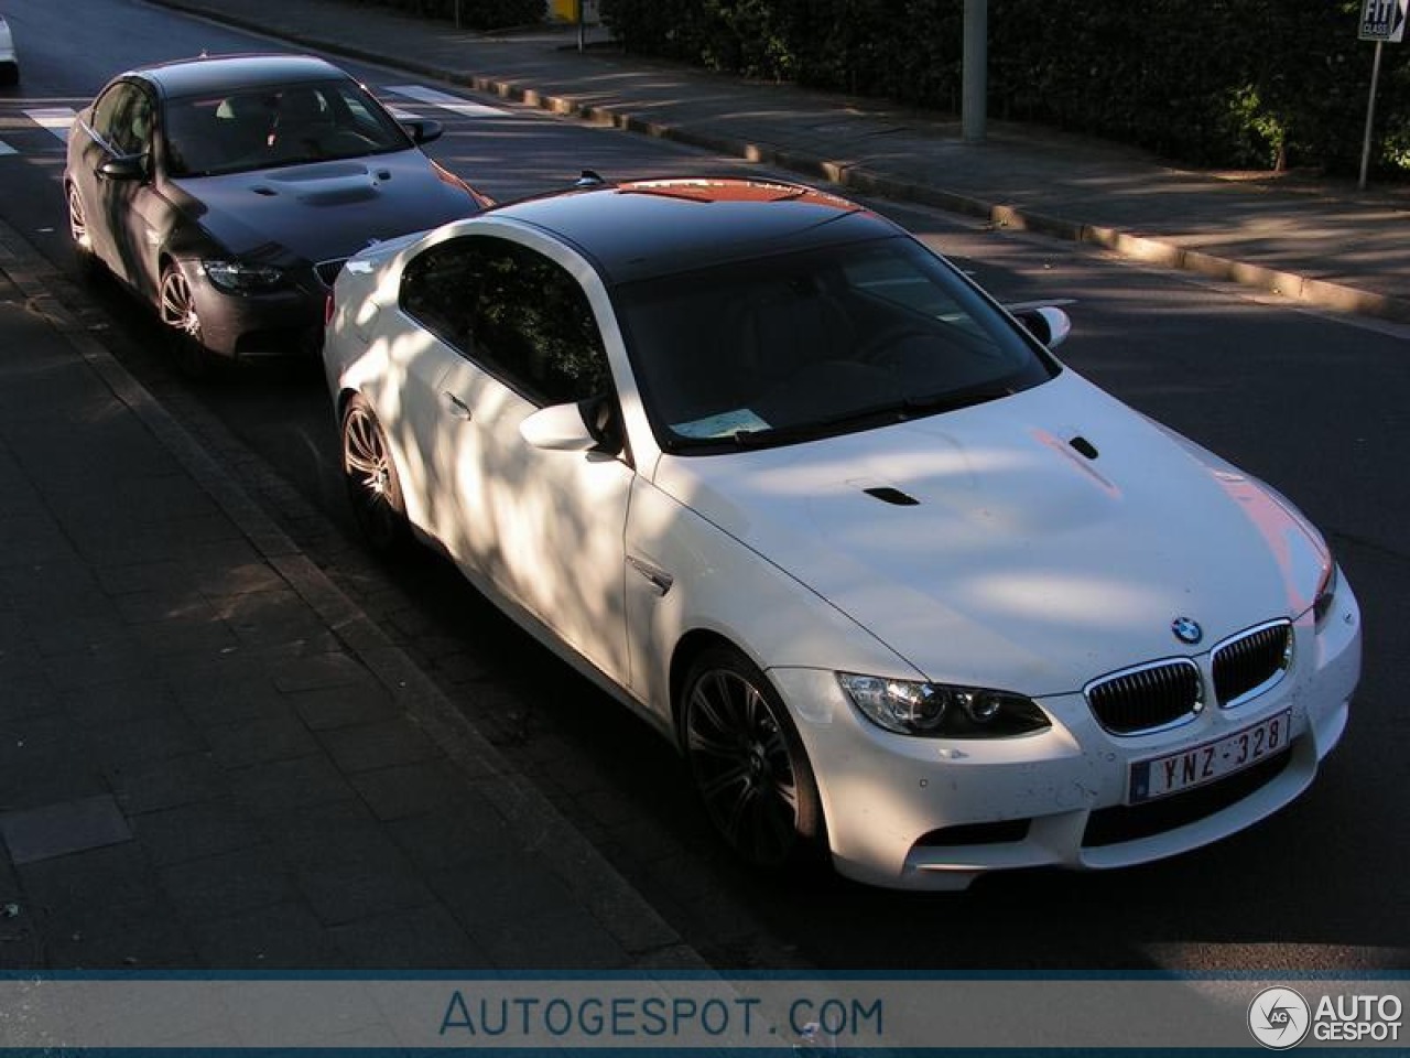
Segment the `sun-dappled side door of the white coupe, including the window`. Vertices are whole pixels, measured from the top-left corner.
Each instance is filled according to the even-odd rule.
[[[453,502],[427,504],[433,532],[470,570],[626,684],[625,552],[634,471],[620,453],[529,444],[540,408],[612,396],[601,332],[578,281],[519,243],[468,236],[431,247],[407,276],[436,271],[427,305],[457,351],[436,384],[430,478]],[[415,286],[415,282],[413,282]],[[403,291],[406,286],[403,285]]]

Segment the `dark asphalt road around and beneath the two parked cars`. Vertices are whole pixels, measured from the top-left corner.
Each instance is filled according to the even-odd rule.
[[[1410,625],[1394,616],[1410,597],[1410,543],[1400,532],[1410,516],[1410,329],[1296,310],[1090,250],[874,203],[1000,298],[1072,299],[1076,330],[1062,350],[1072,367],[1292,497],[1327,532],[1358,590],[1366,669],[1347,738],[1314,789],[1214,848],[1104,875],[993,877],[948,896],[874,892],[828,876],[760,879],[716,846],[682,769],[643,725],[439,560],[386,570],[358,550],[317,371],[274,367],[192,388],[154,354],[157,332],[140,306],[110,284],[78,285],[59,193],[62,144],[35,113],[79,109],[127,66],[279,45],[131,0],[87,0],[82,18],[48,0],[7,0],[6,11],[28,31],[24,83],[0,90],[0,141],[13,150],[0,155],[0,216],[63,272],[56,293],[224,453],[300,546],[716,965],[1410,968],[1410,712],[1400,690],[1410,676]],[[455,95],[494,113],[415,103],[391,89],[423,80],[344,65],[399,109],[446,121],[430,152],[495,197],[561,185],[582,168],[609,176],[750,171],[462,92]]]

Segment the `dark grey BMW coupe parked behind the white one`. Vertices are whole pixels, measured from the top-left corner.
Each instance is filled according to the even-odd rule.
[[[347,257],[489,205],[420,151],[440,134],[312,56],[130,71],[69,134],[69,230],[157,308],[183,367],[314,353]]]

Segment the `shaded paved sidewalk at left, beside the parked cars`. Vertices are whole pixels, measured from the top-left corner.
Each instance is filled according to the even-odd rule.
[[[0,971],[704,969],[0,226]]]

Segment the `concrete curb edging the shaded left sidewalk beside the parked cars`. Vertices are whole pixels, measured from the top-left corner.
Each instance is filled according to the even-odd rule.
[[[0,271],[82,357],[114,396],[250,540],[482,794],[539,851],[554,877],[644,968],[709,971],[675,930],[498,749],[376,624],[265,513],[238,481],[124,368],[54,295],[59,274],[0,221]]]

